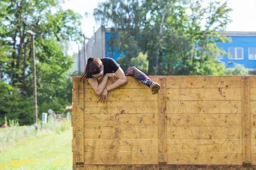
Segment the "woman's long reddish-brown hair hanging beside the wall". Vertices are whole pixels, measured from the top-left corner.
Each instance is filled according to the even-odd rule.
[[[85,66],[84,73],[81,75],[80,82],[84,81],[85,79],[90,79],[93,71],[99,70],[102,67],[101,59],[90,57],[87,60],[87,64]],[[88,80],[87,80],[88,81]]]

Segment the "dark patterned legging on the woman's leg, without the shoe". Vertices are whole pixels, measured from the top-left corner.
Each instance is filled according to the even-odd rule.
[[[135,77],[139,82],[150,88],[150,85],[154,83],[151,79],[147,77],[145,73],[137,69],[136,67],[130,67],[125,71],[125,76]]]

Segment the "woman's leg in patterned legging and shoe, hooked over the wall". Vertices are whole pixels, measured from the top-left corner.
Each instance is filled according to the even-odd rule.
[[[153,82],[151,79],[148,78],[145,73],[143,73],[136,67],[128,68],[128,70],[125,71],[125,76],[135,77],[139,82],[151,88],[152,94],[157,94],[161,88],[158,83]]]

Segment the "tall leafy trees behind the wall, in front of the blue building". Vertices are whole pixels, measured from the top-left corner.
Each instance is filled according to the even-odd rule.
[[[107,0],[94,9],[96,21],[114,27],[112,49],[125,69],[140,52],[148,54],[149,75],[224,75],[216,42],[231,22],[227,3],[203,0]],[[227,54],[226,54],[227,55]]]

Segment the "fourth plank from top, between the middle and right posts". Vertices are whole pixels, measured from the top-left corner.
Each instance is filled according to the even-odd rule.
[[[167,126],[241,126],[241,114],[167,114]]]

